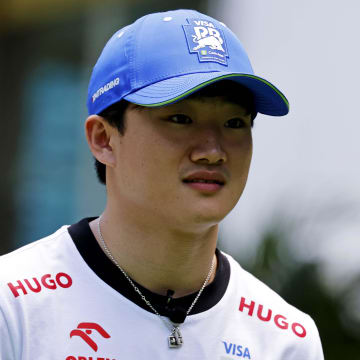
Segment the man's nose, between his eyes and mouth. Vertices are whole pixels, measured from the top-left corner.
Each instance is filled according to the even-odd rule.
[[[227,161],[226,152],[221,145],[220,134],[216,129],[207,129],[196,136],[190,159],[195,163],[220,165]]]

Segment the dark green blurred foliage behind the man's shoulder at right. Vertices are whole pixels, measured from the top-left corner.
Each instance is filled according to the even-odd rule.
[[[304,262],[289,248],[285,228],[268,230],[246,270],[317,324],[326,360],[360,358],[360,319],[352,303],[360,296],[360,275],[337,292],[325,285],[320,265]],[[236,257],[236,255],[235,255]]]

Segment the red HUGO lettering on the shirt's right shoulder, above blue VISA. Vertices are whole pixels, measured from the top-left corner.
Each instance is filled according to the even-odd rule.
[[[246,299],[244,297],[242,297],[240,300],[239,310],[241,312],[247,311],[249,316],[253,316],[255,306],[256,306],[255,301],[250,301],[250,302],[246,303]],[[261,321],[269,321],[270,322],[272,319],[272,316],[273,316],[273,311],[271,309],[267,309],[267,312],[266,312],[266,311],[264,311],[264,306],[261,304],[258,304],[256,315]],[[301,338],[304,338],[306,336],[306,329],[304,328],[304,326],[302,326],[299,323],[295,323],[295,322],[292,324],[289,324],[286,320],[287,320],[287,318],[283,315],[280,315],[280,314],[274,315],[274,323],[278,328],[283,329],[283,330],[288,330],[289,325],[290,325],[292,332],[296,336],[299,336]]]

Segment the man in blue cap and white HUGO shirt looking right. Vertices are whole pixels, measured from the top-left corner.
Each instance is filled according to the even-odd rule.
[[[226,25],[178,10],[117,31],[88,109],[106,208],[2,258],[1,359],[323,359],[312,319],[216,249],[256,114],[288,112]]]

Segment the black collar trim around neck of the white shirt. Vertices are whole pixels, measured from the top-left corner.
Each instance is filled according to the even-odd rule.
[[[99,246],[89,226],[89,222],[94,219],[95,218],[85,218],[68,228],[69,234],[79,253],[100,279],[133,303],[152,312]],[[216,256],[218,266],[215,279],[210,285],[206,286],[199,301],[194,305],[191,314],[198,314],[212,308],[225,294],[230,279],[230,264],[225,255],[218,249],[216,249]],[[184,311],[187,311],[197,295],[196,292],[181,298],[171,298],[169,302],[167,296],[155,294],[140,284],[137,284],[135,281],[134,283],[161,315],[171,317],[172,319],[175,319],[176,316],[179,315],[179,312],[184,313]],[[175,318],[174,313],[176,313]]]

